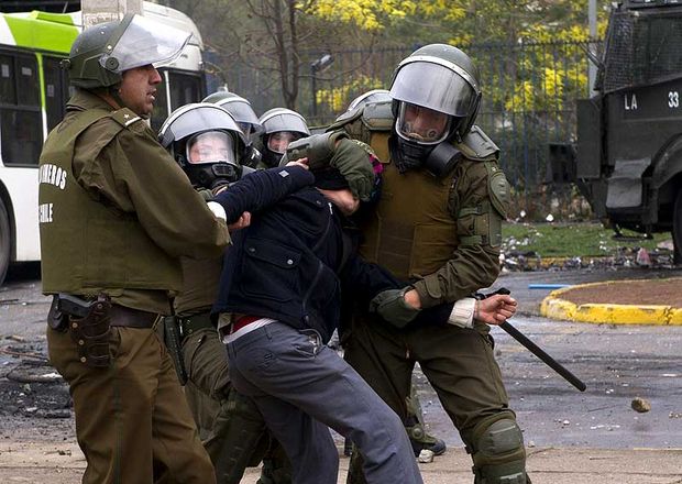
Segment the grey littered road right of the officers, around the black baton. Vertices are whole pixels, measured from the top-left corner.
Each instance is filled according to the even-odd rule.
[[[609,279],[680,277],[681,270],[569,271],[503,274],[519,301],[510,322],[585,382],[579,392],[499,328],[496,355],[526,443],[591,448],[682,448],[682,327],[587,324],[539,317],[549,290],[529,284],[581,284]],[[682,297],[682,296],[680,296]],[[432,389],[417,374],[432,433],[462,446]],[[631,409],[632,398],[651,411]],[[682,464],[681,464],[682,466]]]

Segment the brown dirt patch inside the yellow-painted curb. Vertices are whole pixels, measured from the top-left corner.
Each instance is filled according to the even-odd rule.
[[[576,287],[561,299],[583,304],[653,305],[682,308],[682,278],[616,280],[598,286]]]

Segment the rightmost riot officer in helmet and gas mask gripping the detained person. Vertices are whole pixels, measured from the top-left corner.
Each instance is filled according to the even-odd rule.
[[[524,439],[490,327],[475,318],[410,324],[421,309],[488,287],[499,273],[509,187],[497,146],[474,125],[479,73],[462,51],[427,45],[398,65],[391,96],[332,128],[367,142],[384,162],[383,197],[361,222],[360,253],[411,284],[377,296],[375,315],[355,317],[345,358],[403,417],[419,362],[472,454],[474,482],[526,484]],[[475,304],[455,305],[453,316],[473,311]],[[353,483],[364,481],[358,462]]]

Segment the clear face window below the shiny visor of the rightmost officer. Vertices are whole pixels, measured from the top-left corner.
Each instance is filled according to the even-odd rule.
[[[406,140],[436,144],[448,138],[452,117],[409,102],[400,102],[396,132]]]

